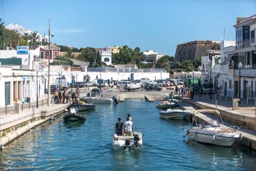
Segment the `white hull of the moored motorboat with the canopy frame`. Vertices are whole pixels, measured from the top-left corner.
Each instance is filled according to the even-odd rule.
[[[234,141],[240,137],[239,133],[217,133],[205,131],[203,129],[190,129],[188,132],[189,140],[198,141],[200,143],[208,143],[217,146],[233,145]]]

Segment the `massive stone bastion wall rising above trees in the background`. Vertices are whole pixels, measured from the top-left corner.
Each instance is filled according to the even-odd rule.
[[[194,60],[201,58],[202,55],[212,48],[211,40],[196,40],[193,42],[177,45],[175,52],[175,60],[183,62],[184,60]]]

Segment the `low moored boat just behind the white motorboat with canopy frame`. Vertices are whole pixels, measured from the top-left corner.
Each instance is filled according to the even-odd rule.
[[[181,109],[167,109],[160,111],[160,116],[164,119],[184,119],[189,116],[190,111]]]

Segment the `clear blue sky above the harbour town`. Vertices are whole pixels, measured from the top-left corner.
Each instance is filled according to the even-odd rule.
[[[138,46],[174,55],[193,40],[234,40],[236,17],[256,14],[255,0],[0,0],[0,17],[48,34],[51,42],[85,48]]]

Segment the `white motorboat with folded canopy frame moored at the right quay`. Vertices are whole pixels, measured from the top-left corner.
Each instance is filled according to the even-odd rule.
[[[214,119],[207,115],[205,122],[199,126],[196,120],[196,114],[198,113],[210,113]],[[217,110],[195,110],[192,116],[195,126],[184,134],[184,137],[188,135],[189,140],[228,147],[233,145],[237,138],[240,137],[242,140],[242,134],[239,132],[239,126],[224,126],[222,117]]]

